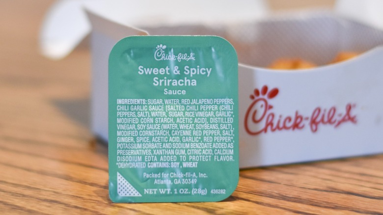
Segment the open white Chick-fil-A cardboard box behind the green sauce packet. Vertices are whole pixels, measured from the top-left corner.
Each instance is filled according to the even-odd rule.
[[[110,4],[106,9],[105,2],[83,4],[92,25],[91,107],[96,135],[108,139],[108,57],[118,40],[131,35],[204,34],[226,38],[239,55],[241,168],[383,152],[382,31],[332,12],[266,17],[263,1],[249,1],[246,6],[219,3],[218,12],[202,13],[211,17],[192,14],[206,4],[193,1],[192,7],[173,14],[177,18],[163,17],[169,8],[153,2],[120,6],[126,8],[120,15]],[[72,46],[85,34],[75,36]],[[44,47],[57,48],[44,52],[53,57],[70,50],[60,50],[55,42]],[[349,50],[364,54],[327,65],[338,52]],[[323,66],[297,71],[264,68],[283,56],[301,56]]]

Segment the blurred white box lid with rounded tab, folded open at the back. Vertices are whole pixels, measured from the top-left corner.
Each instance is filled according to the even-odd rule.
[[[41,29],[42,54],[54,59],[65,57],[89,34],[92,27],[83,8],[135,27],[230,24],[252,21],[268,12],[264,0],[59,0],[47,13]]]

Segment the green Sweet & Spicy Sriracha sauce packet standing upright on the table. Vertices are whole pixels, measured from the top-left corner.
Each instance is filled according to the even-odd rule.
[[[211,202],[239,179],[238,58],[217,36],[131,36],[109,55],[113,202]]]

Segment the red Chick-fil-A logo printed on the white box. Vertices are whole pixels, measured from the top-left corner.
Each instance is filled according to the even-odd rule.
[[[278,93],[278,88],[269,91],[267,85],[261,89],[254,89],[254,93],[250,95],[253,102],[245,114],[245,129],[248,134],[257,135],[283,130],[295,131],[302,130],[306,126],[309,126],[311,132],[315,133],[321,125],[336,128],[344,123],[356,124],[356,115],[352,113],[356,105],[351,103],[347,104],[342,111],[332,106],[330,108],[314,108],[310,115],[302,115],[298,110],[287,116],[276,114],[269,101],[275,98]]]

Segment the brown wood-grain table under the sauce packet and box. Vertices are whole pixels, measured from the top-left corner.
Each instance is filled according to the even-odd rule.
[[[0,214],[383,214],[383,155],[242,170],[223,202],[111,203],[89,52],[38,54],[52,2],[0,1]]]

